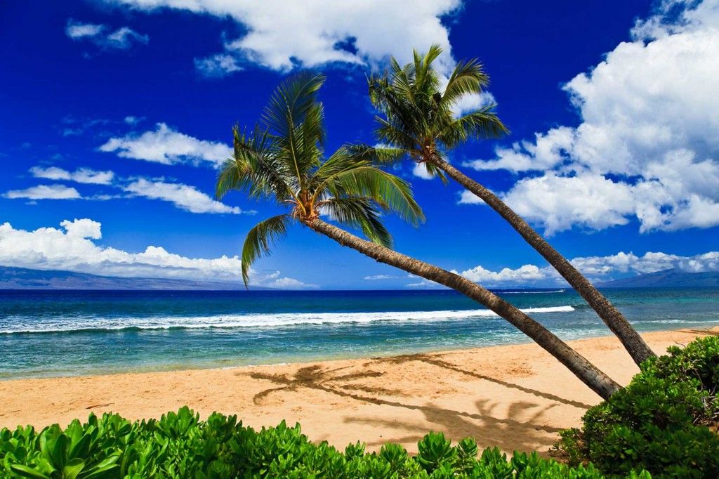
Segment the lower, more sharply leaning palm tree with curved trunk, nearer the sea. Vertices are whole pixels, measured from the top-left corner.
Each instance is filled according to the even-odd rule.
[[[392,237],[381,221],[385,211],[417,224],[423,214],[402,179],[358,159],[351,148],[340,147],[324,156],[324,111],[316,94],[321,75],[302,73],[282,83],[251,133],[234,128],[234,155],[226,160],[216,194],[246,191],[255,199],[269,199],[288,211],[249,230],[242,247],[242,278],[248,284],[250,267],[288,230],[303,224],[381,263],[435,281],[464,293],[502,316],[556,357],[593,391],[608,398],[618,384],[561,339],[507,301],[462,276],[390,249]],[[362,239],[326,222],[359,229]]]

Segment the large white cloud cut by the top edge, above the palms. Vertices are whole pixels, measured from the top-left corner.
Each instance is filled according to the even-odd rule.
[[[413,48],[426,50],[433,43],[446,50],[441,63],[448,70],[452,63],[449,31],[441,17],[457,12],[461,6],[460,0],[112,1],[143,11],[170,8],[230,17],[247,32],[227,41],[224,53],[211,57],[210,64],[221,68],[225,58],[237,58],[273,70],[298,65],[311,68],[331,62],[378,63],[389,55],[406,62]],[[205,65],[205,60],[198,61]],[[237,68],[234,62],[225,61],[225,65],[226,72]]]

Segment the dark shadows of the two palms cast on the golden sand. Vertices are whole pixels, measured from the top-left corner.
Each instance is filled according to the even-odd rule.
[[[560,403],[574,406],[578,409],[587,409],[589,404],[571,401],[543,391],[525,388],[514,383],[498,380],[489,376],[480,375],[472,371],[463,370],[457,365],[441,359],[441,355],[403,355],[398,357],[373,358],[365,362],[362,370],[349,370],[344,368],[322,368],[320,365],[311,365],[300,368],[294,374],[249,373],[257,380],[267,380],[277,385],[257,393],[253,401],[262,405],[267,398],[275,393],[294,392],[302,388],[315,391],[324,391],[342,398],[351,398],[367,404],[390,406],[401,409],[419,411],[425,421],[388,420],[377,417],[349,416],[344,418],[346,424],[365,424],[369,426],[386,427],[406,434],[397,437],[386,437],[380,440],[369,440],[370,447],[376,447],[385,442],[413,443],[417,442],[430,429],[439,430],[449,434],[452,439],[462,437],[475,437],[482,446],[498,446],[503,450],[535,450],[538,445],[549,447],[557,439],[557,432],[562,428],[548,426],[546,412]],[[367,384],[363,380],[382,378],[385,373],[372,369],[372,365],[382,363],[398,364],[403,362],[421,361],[443,368],[452,374],[469,375],[473,378],[487,380],[506,388],[517,389],[524,393],[549,399],[554,403],[540,404],[532,401],[516,401],[508,406],[490,399],[475,401],[476,411],[458,411],[456,409],[440,406],[428,401],[415,403],[411,395],[399,389],[387,388]],[[502,406],[501,408],[498,406]],[[499,414],[498,409],[508,407],[506,414]],[[506,416],[506,417],[499,417]],[[516,419],[521,418],[521,419]],[[428,426],[427,422],[436,424]]]

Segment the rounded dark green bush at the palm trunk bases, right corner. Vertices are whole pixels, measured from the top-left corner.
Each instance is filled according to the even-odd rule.
[[[648,360],[629,386],[562,433],[573,465],[608,474],[648,470],[656,478],[718,478],[719,337]]]

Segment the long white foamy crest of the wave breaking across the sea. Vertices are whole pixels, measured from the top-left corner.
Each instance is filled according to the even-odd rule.
[[[536,313],[566,313],[572,306],[527,308],[522,311]],[[280,314],[219,314],[216,316],[125,316],[116,318],[68,318],[24,322],[11,320],[12,327],[0,329],[0,334],[72,332],[119,329],[209,329],[209,328],[273,328],[302,324],[371,323],[375,321],[448,321],[498,317],[488,309],[458,311],[387,311],[375,313],[280,313]]]

